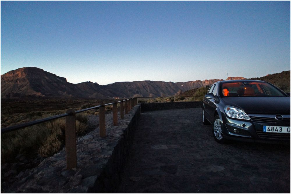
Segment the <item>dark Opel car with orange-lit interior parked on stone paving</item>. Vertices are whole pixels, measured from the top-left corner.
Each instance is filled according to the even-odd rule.
[[[290,96],[259,80],[215,82],[203,98],[202,121],[218,143],[290,143]]]

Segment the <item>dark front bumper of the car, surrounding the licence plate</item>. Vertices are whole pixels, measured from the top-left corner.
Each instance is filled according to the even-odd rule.
[[[260,118],[275,118],[275,115],[254,115],[248,114],[251,120],[232,119],[222,114],[224,131],[223,134],[227,139],[245,139],[255,142],[289,142],[290,133],[265,133],[263,126],[289,126],[290,115],[283,115],[283,121],[274,121],[271,119]],[[255,119],[252,119],[255,118]],[[258,119],[259,118],[259,119]]]

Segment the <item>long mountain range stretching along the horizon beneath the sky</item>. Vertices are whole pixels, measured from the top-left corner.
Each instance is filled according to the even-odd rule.
[[[283,73],[283,72],[282,72]],[[273,74],[274,75],[274,74]],[[269,75],[270,77],[272,75]],[[228,79],[245,79],[228,77]],[[289,71],[290,80],[290,71]],[[129,98],[133,96],[173,96],[178,91],[187,91],[212,85],[214,80],[191,82],[135,81],[99,85],[92,82],[72,84],[66,78],[36,67],[24,67],[1,75],[1,98],[22,96],[81,97],[81,98]],[[280,82],[281,83],[281,82]],[[282,83],[283,84],[283,83]],[[290,82],[289,82],[290,91]]]

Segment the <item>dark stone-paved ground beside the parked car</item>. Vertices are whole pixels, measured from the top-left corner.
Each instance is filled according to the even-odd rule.
[[[218,144],[201,108],[141,114],[118,193],[290,193],[290,145]]]

